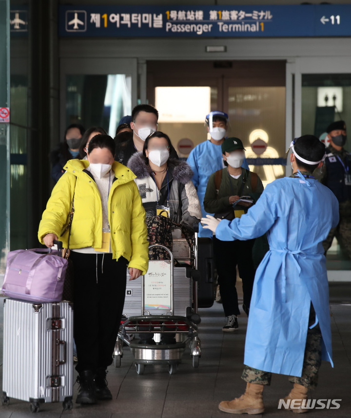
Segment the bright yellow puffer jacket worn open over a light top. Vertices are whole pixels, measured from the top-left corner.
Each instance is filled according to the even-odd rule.
[[[101,247],[102,207],[98,186],[88,174],[85,160],[70,160],[66,172],[56,183],[43,212],[38,238],[43,243],[46,234],[53,233],[67,247],[68,230],[60,236],[69,222],[69,213],[74,196],[70,248]],[[112,164],[115,180],[108,199],[108,220],[111,229],[113,258],[123,256],[145,274],[148,269],[148,241],[145,210],[142,206],[136,176],[124,165]]]

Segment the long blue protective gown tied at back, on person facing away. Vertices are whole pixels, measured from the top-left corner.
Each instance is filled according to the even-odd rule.
[[[297,377],[302,373],[311,301],[323,337],[322,360],[333,365],[322,241],[339,221],[331,190],[300,176],[268,184],[247,215],[222,220],[215,231],[223,241],[267,232],[270,251],[254,279],[244,364]]]

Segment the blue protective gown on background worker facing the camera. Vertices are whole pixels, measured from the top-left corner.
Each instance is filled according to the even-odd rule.
[[[213,213],[209,214],[205,211],[203,200],[211,174],[224,167],[221,145],[215,145],[211,141],[205,141],[196,145],[189,154],[187,163],[194,171],[193,183],[200,200],[202,216],[214,215]],[[249,169],[246,159],[244,160],[242,167]],[[212,238],[212,231],[202,228],[201,224],[199,224],[198,236]]]

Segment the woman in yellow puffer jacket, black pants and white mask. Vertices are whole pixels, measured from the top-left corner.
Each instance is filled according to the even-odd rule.
[[[106,368],[112,363],[122,316],[127,264],[131,280],[148,269],[145,210],[136,176],[114,161],[115,142],[108,135],[96,135],[87,156],[88,161],[70,160],[64,166],[66,172],[52,191],[38,232],[47,247],[58,237],[67,247],[65,229],[73,202],[69,247],[74,266],[77,403],[112,399]]]

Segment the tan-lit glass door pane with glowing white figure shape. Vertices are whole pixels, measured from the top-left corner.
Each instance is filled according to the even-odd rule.
[[[228,134],[242,140],[246,158],[285,157],[285,87],[229,87],[228,115]],[[250,170],[264,186],[285,174],[282,165],[250,165]]]

